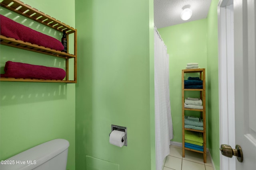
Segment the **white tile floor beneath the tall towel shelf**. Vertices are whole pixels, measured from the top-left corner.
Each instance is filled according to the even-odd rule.
[[[171,145],[163,170],[214,170],[214,168],[208,153],[207,161],[204,163],[202,153],[185,150],[185,157],[182,158],[182,147]]]

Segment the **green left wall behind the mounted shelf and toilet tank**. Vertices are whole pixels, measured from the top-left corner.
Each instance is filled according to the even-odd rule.
[[[22,0],[22,2],[74,27],[74,0]],[[62,13],[64,10],[65,15]],[[1,8],[1,14],[8,10]],[[8,17],[14,19],[16,13]],[[31,25],[47,35],[60,39],[62,33],[50,31],[25,18],[17,22]],[[63,59],[33,53],[8,46],[0,46],[1,74],[6,61],[16,61],[64,68]],[[14,156],[26,149],[62,138],[70,143],[67,169],[75,170],[75,84],[40,82],[0,82],[0,160]]]

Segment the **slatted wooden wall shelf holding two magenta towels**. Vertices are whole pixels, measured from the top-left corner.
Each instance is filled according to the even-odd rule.
[[[68,41],[68,37],[70,34],[74,34],[74,54],[64,53],[62,51],[57,51],[54,49],[42,47],[36,44],[31,44],[28,42],[24,42],[21,40],[17,40],[10,37],[5,37],[3,35],[0,35],[1,38],[1,44],[2,45],[8,45],[10,47],[15,47],[19,49],[24,49],[28,51],[34,51],[36,53],[42,53],[46,55],[51,55],[54,57],[60,57],[66,60],[66,78],[65,80],[44,80],[44,79],[30,79],[30,78],[0,78],[0,81],[14,81],[14,82],[63,82],[63,83],[76,83],[76,75],[77,75],[77,45],[76,45],[76,39],[77,39],[77,32],[76,29],[73,27],[70,27],[69,25],[66,25],[65,23],[62,23],[61,21],[56,20],[55,18],[52,18],[43,12],[40,12],[36,10],[35,8],[32,8],[31,6],[24,4],[20,0],[2,0],[0,5],[8,10],[11,10],[13,12],[16,12],[17,14],[20,14],[22,16],[25,16],[31,20],[34,20],[38,23],[41,23],[43,25],[46,25],[52,29],[55,29],[57,31],[66,31],[66,37]],[[69,80],[69,59],[74,59],[74,80]]]

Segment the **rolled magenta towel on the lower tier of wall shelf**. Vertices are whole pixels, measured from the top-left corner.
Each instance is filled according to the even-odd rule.
[[[17,63],[12,61],[7,61],[5,63],[4,71],[5,74],[1,74],[1,77],[63,80],[66,76],[66,71],[62,68]]]

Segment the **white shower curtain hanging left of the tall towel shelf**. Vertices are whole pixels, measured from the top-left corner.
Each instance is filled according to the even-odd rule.
[[[164,158],[170,153],[173,131],[169,93],[169,56],[156,27],[154,28],[154,73],[156,170],[162,170]]]

